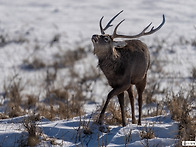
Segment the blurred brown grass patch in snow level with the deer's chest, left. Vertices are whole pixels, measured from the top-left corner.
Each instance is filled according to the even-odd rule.
[[[49,42],[50,47],[54,46],[55,44],[58,45],[59,40],[60,34],[56,34]],[[76,61],[85,58],[87,56],[87,53],[89,52],[88,48],[81,46],[76,47],[74,50],[67,49],[66,51],[65,49],[61,49],[61,47],[58,47],[59,52],[53,55],[54,59],[52,60],[52,62],[46,63],[42,58],[35,55],[37,51],[44,48],[46,48],[46,46],[41,48],[39,43],[35,42],[35,46],[34,48],[32,48],[33,53],[23,60],[23,65],[21,66],[21,68],[24,70],[37,70],[51,67],[69,68],[71,66],[74,66]]]

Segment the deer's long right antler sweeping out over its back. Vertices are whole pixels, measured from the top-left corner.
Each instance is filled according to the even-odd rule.
[[[163,14],[163,21],[162,21],[162,23],[161,23],[157,28],[154,29],[154,26],[153,26],[153,27],[151,28],[150,31],[145,32],[145,31],[150,27],[150,25],[152,24],[152,22],[151,22],[147,27],[144,28],[144,30],[143,30],[141,33],[139,33],[139,34],[137,34],[137,35],[133,35],[133,36],[118,35],[118,34],[116,33],[117,28],[119,27],[119,25],[120,25],[124,20],[125,20],[125,19],[123,19],[123,20],[115,27],[114,32],[113,32],[113,35],[112,35],[112,38],[138,38],[138,37],[141,37],[141,36],[144,36],[144,35],[153,34],[154,32],[158,31],[158,30],[164,25],[164,23],[165,23],[165,16],[164,16],[164,14]]]

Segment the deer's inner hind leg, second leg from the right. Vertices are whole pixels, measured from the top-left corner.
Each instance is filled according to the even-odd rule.
[[[132,112],[132,123],[136,124],[136,119],[135,119],[135,108],[134,108],[134,92],[133,92],[133,87],[132,85],[129,87],[129,89],[127,90],[128,94],[129,94],[129,99],[130,99],[130,103],[131,103],[131,112]]]

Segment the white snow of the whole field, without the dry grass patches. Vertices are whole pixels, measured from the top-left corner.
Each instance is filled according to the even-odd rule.
[[[105,16],[105,24],[121,10],[124,12],[113,22],[115,26],[125,19],[118,29],[121,34],[137,34],[150,22],[156,27],[161,23],[162,15],[165,15],[166,23],[158,32],[140,38],[150,47],[151,54],[156,54],[153,46],[158,46],[158,43],[162,45],[158,58],[164,61],[162,70],[166,75],[162,71],[156,74],[149,72],[149,78],[159,83],[160,89],[167,87],[168,91],[174,92],[186,89],[189,84],[195,84],[195,80],[191,80],[192,69],[196,67],[195,8],[195,0],[0,0],[0,112],[7,111],[9,98],[5,96],[5,87],[14,77],[21,79],[22,95],[33,94],[44,101],[47,90],[43,81],[47,71],[68,50],[82,47],[88,52],[74,65],[67,63],[58,69],[54,87],[59,88],[75,80],[68,73],[67,66],[73,66],[74,73],[81,77],[92,74],[94,69],[102,74],[93,55],[91,37],[100,34],[99,20],[102,16]],[[107,33],[111,34],[112,31],[113,28]],[[45,67],[33,69],[27,65],[34,59],[41,60]],[[157,76],[160,74],[161,78]],[[37,146],[175,146],[178,122],[171,119],[167,109],[164,115],[143,118],[141,126],[132,124],[131,118],[128,118],[126,127],[108,125],[108,132],[100,132],[91,115],[105,100],[110,87],[105,84],[107,81],[103,76],[90,83],[91,91],[84,93],[87,101],[82,116],[53,121],[42,117],[36,122],[36,127],[42,132],[42,141]],[[166,96],[162,94],[156,98],[161,101],[163,97]],[[135,105],[137,116],[137,102]],[[147,114],[147,107],[143,108],[143,113]],[[27,113],[24,113],[22,116],[0,119],[0,146],[24,144],[21,140],[27,137],[23,123],[27,117]],[[90,132],[84,133],[86,123]],[[149,129],[155,137],[141,139],[142,130]],[[55,143],[51,143],[51,139]]]

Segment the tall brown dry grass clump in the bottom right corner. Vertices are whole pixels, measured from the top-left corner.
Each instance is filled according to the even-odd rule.
[[[171,94],[168,101],[168,108],[173,120],[179,122],[178,138],[179,144],[181,141],[195,140],[196,137],[196,117],[191,115],[193,109],[193,100],[196,98],[196,93],[193,87],[185,95],[183,92]]]

